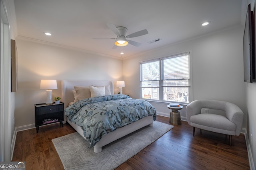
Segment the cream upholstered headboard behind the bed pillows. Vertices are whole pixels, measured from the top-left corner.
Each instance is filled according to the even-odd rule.
[[[110,93],[114,94],[114,84],[109,80],[62,80],[61,81],[61,101],[64,102],[64,108],[70,102],[74,102],[73,90],[74,86],[108,86],[110,85]]]

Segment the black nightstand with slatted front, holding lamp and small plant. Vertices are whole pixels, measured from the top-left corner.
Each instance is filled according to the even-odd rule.
[[[38,133],[39,126],[48,125],[50,123],[60,122],[60,125],[63,127],[64,103],[53,103],[52,105],[35,104],[35,119],[36,133]]]

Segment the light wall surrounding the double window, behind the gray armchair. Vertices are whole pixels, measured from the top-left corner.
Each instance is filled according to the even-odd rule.
[[[197,39],[142,53],[124,60],[124,94],[140,98],[139,62],[190,52],[193,100],[212,99],[232,102],[245,111],[243,70],[243,28],[238,25]],[[152,44],[153,45],[153,44]],[[170,114],[167,103],[151,102],[158,113]],[[186,119],[186,107],[180,110]],[[245,116],[246,118],[246,116]],[[244,119],[243,127],[246,127]]]

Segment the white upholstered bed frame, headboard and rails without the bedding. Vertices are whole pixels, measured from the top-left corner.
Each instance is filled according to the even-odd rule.
[[[61,81],[61,87],[62,87],[62,93],[61,93],[61,99],[62,102],[64,102],[64,108],[68,107],[68,104],[70,102],[74,102],[74,95],[72,90],[74,90],[74,86],[108,86],[110,85],[110,92],[111,94],[114,94],[114,84],[112,81],[108,80],[62,80]],[[63,123],[66,123],[68,119],[66,119]],[[68,121],[68,123],[76,129],[76,131],[84,137],[84,131],[75,123],[71,123]],[[108,133],[107,135],[104,135],[102,139],[96,145],[94,146],[94,152],[98,153],[102,151],[102,147],[115,141],[116,139],[119,139],[121,137],[124,137],[125,135],[128,135],[129,133],[132,133],[142,127],[145,126],[152,126],[153,125],[153,116],[147,116],[144,117],[134,123],[131,123],[129,125],[126,125],[124,127],[116,129],[116,131]]]

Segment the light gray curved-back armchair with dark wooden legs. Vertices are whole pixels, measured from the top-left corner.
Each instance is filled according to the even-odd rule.
[[[188,124],[195,128],[229,135],[239,136],[244,113],[235,104],[218,100],[195,100],[186,107]]]

